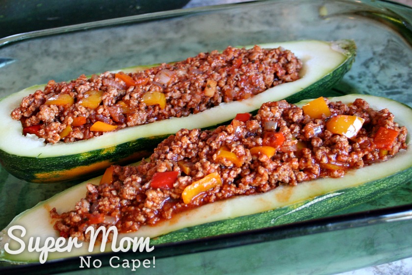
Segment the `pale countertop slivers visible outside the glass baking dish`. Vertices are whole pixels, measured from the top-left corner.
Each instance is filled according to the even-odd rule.
[[[218,4],[229,4],[237,2],[246,2],[247,0],[191,0],[184,8],[206,6],[206,5],[218,5]],[[412,0],[395,0],[394,2],[399,2],[405,5],[412,6]],[[345,273],[340,273],[338,275],[411,275],[412,274],[412,257],[390,262],[386,264],[381,264],[372,267],[366,267],[359,270],[348,271]]]

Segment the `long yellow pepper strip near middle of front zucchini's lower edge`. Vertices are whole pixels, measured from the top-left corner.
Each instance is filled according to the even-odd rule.
[[[191,185],[186,186],[186,188],[181,193],[181,197],[185,204],[189,204],[193,198],[202,192],[215,188],[216,186],[222,185],[222,179],[219,173],[214,172],[208,174],[203,179],[193,182]]]

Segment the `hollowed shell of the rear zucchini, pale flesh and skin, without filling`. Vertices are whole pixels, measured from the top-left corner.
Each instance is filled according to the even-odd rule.
[[[292,51],[303,61],[301,79],[275,86],[246,100],[220,104],[201,113],[124,128],[88,140],[45,145],[42,141],[23,136],[21,123],[13,120],[10,113],[20,105],[24,96],[42,89],[44,85],[32,86],[7,96],[0,100],[0,162],[12,175],[28,182],[61,182],[85,175],[90,177],[92,172],[103,171],[113,163],[141,160],[161,140],[181,128],[213,127],[229,121],[236,113],[257,110],[268,101],[287,99],[293,103],[320,96],[341,80],[356,55],[356,45],[350,40],[310,40],[260,46],[282,46]],[[123,71],[144,68],[147,66]]]

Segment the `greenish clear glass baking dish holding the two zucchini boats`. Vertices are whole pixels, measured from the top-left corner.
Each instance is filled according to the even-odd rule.
[[[228,45],[354,39],[351,71],[328,94],[385,96],[412,106],[412,9],[386,1],[277,0],[181,9],[0,39],[0,96],[30,85],[137,64],[180,60]],[[411,130],[411,129],[410,129]],[[0,227],[74,183],[33,184],[0,169]],[[102,274],[128,274],[109,260],[152,259],[139,274],[333,274],[412,256],[412,181],[329,217],[237,232],[154,251],[103,253]],[[0,263],[0,273],[94,274],[79,258]]]

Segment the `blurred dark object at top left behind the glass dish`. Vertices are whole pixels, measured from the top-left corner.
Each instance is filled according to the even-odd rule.
[[[247,0],[0,0],[0,38],[158,11]],[[412,5],[412,0],[394,0]]]

